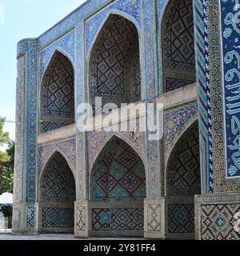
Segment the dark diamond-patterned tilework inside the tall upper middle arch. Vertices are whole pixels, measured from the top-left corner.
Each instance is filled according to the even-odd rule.
[[[133,65],[134,58],[139,58],[136,26],[122,16],[111,14],[91,54],[90,99],[102,97],[103,101],[117,104],[133,102],[133,98],[139,100],[140,68],[136,67],[139,61]],[[130,79],[130,74],[136,77]]]

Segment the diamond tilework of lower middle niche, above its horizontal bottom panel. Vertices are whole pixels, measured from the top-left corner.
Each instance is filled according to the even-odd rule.
[[[146,176],[141,158],[120,138],[113,138],[93,169],[94,201],[145,198]]]

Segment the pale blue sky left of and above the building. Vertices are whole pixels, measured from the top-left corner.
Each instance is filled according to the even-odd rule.
[[[22,38],[38,37],[85,0],[0,0],[0,116],[15,119],[16,49]],[[3,6],[3,8],[2,8]],[[5,130],[14,139],[14,124]]]

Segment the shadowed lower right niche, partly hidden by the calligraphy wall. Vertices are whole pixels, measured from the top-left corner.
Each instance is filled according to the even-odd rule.
[[[167,232],[194,238],[194,195],[201,194],[198,121],[178,139],[166,166]]]

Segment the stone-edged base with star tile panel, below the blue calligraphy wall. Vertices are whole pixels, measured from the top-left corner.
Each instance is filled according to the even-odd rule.
[[[195,196],[197,240],[240,239],[240,193]]]

